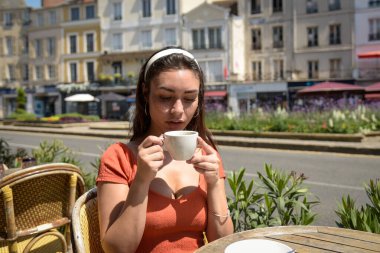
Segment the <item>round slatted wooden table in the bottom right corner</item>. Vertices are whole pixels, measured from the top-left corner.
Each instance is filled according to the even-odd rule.
[[[231,243],[251,238],[277,241],[297,253],[380,252],[380,234],[324,226],[279,226],[247,230],[210,242],[195,252],[223,253]]]

